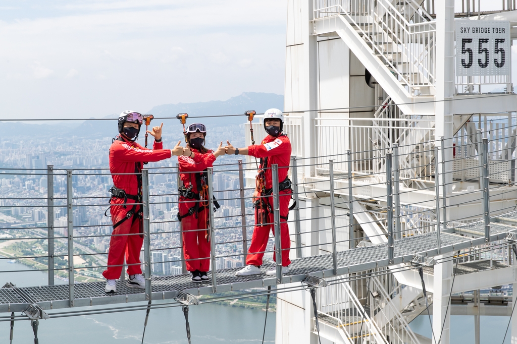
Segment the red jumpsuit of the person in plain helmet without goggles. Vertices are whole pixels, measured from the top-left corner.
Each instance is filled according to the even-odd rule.
[[[255,158],[266,158],[268,169],[265,170],[266,189],[273,187],[271,178],[271,165],[278,164],[278,181],[281,183],[287,178],[287,171],[289,169],[289,163],[291,160],[291,142],[285,135],[272,137],[268,135],[262,140],[261,145],[253,145],[248,147],[248,155]],[[282,168],[284,167],[284,168]],[[260,191],[260,190],[259,190]],[[259,193],[260,195],[260,193]],[[280,219],[280,238],[282,242],[282,266],[287,267],[291,264],[289,259],[289,248],[291,247],[291,239],[289,237],[289,228],[285,218],[289,213],[289,201],[291,200],[291,190],[280,191],[280,216],[284,217]],[[273,209],[273,197],[267,197],[267,202],[271,209]],[[275,234],[275,227],[273,213],[269,213],[270,225],[258,226],[255,225],[253,230],[253,236],[251,237],[251,245],[248,250],[248,256],[246,257],[247,265],[262,265],[262,257],[264,251],[266,251],[267,241],[269,238],[269,231]],[[257,223],[257,215],[255,211],[255,224]],[[276,260],[276,255],[273,254],[273,260]]]

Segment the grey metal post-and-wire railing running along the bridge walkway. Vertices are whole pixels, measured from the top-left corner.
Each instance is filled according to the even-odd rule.
[[[511,128],[505,130],[506,133],[513,132]],[[491,134],[481,132],[481,135]],[[457,138],[461,137],[454,139]],[[328,171],[327,174],[299,177],[298,168],[313,165],[310,162],[314,158],[293,157],[290,169],[297,207],[294,216],[288,220],[291,255],[301,257],[331,254],[333,270],[336,272],[338,253],[355,248],[362,241],[388,243],[386,256],[393,260],[397,239],[436,231],[440,247],[440,232],[459,223],[473,221],[478,221],[484,231],[472,235],[485,237],[488,242],[493,217],[515,210],[512,200],[517,198],[517,191],[513,182],[493,182],[493,176],[503,173],[507,165],[489,160],[490,156],[501,154],[499,151],[508,150],[501,148],[501,145],[511,141],[512,135],[494,136],[498,144],[492,144],[487,138],[482,139],[475,150],[476,157],[481,162],[478,166],[481,177],[478,178],[479,181],[463,181],[462,184],[454,179],[454,171],[448,167],[461,158],[446,158],[447,152],[452,153],[454,139],[426,142],[436,148],[422,151],[421,154],[425,154],[427,160],[424,160],[424,164],[419,163],[412,167],[427,173],[427,179],[419,179],[421,184],[418,185],[403,172],[405,165],[401,160],[406,154],[400,152],[400,147],[398,150],[397,147],[384,149],[385,156],[378,159],[382,160],[386,168],[375,172],[354,170],[354,166],[366,164],[362,155],[364,152],[346,151],[326,157],[329,159],[326,164],[322,160],[317,163]],[[479,149],[481,152],[478,152]],[[449,156],[452,157],[452,154]],[[439,157],[438,161],[432,161],[435,157]],[[338,166],[341,167],[338,169]],[[273,166],[273,176],[278,175],[278,168],[282,167]],[[254,162],[242,161],[215,165],[209,169],[208,180],[212,186],[209,187],[209,199],[215,195],[222,205],[217,212],[211,213],[212,225],[208,228],[212,249],[207,259],[211,263],[214,291],[218,287],[218,270],[238,268],[245,264],[244,258],[254,227],[254,213],[251,207],[252,190],[246,187],[244,175],[254,171]],[[41,191],[30,193],[27,189],[22,189],[23,192],[17,191],[7,197],[7,186],[2,188],[0,211],[10,214],[13,221],[0,228],[0,242],[3,244],[3,253],[0,254],[5,256],[0,259],[23,260],[24,263],[31,264],[32,271],[47,271],[49,284],[54,284],[58,277],[65,279],[69,285],[72,305],[75,297],[74,284],[100,280],[100,272],[107,265],[107,244],[112,234],[112,223],[103,214],[110,206],[110,197],[107,195],[110,184],[101,186],[100,181],[111,176],[109,170],[63,170],[48,166],[40,170],[4,169],[4,172],[1,176],[11,177],[11,181],[16,179],[14,176],[27,181],[47,178],[47,183],[44,184],[48,190],[46,196],[42,196]],[[436,172],[439,178],[436,178]],[[177,177],[176,167],[147,168],[142,173],[144,246],[141,260],[144,264],[148,295],[152,290],[151,274],[185,273],[180,223],[175,218],[179,205]],[[2,183],[4,185],[4,181]],[[11,185],[7,182],[5,184]],[[455,184],[457,189],[453,188]],[[29,188],[31,183],[26,185]],[[39,197],[34,197],[36,195]],[[279,191],[273,190],[272,197],[278,199]],[[277,206],[275,203],[273,208],[276,210]],[[452,213],[457,208],[461,211]],[[23,222],[20,219],[27,214],[27,209],[32,210],[33,218]],[[43,212],[45,216],[39,217],[39,212]],[[272,262],[273,252],[281,257],[279,224],[277,214],[272,224],[276,236],[271,237],[265,250],[266,262]],[[273,239],[277,239],[276,242]],[[474,252],[476,249],[478,252]],[[483,250],[486,252],[500,249],[508,251],[507,247],[483,246],[471,248],[465,254],[479,255]],[[485,259],[485,256],[481,257]],[[509,258],[498,260],[503,263],[510,261]],[[277,267],[278,279],[281,277],[278,269],[280,264],[278,261],[272,263]]]

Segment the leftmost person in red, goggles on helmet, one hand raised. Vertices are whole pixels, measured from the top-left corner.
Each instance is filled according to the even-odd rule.
[[[108,252],[108,268],[102,273],[107,279],[105,291],[116,292],[115,280],[120,277],[124,255],[128,264],[129,287],[145,288],[145,280],[140,268],[142,248],[142,164],[181,155],[184,148],[178,142],[174,149],[162,149],[160,127],[147,131],[153,135],[153,150],[135,142],[140,133],[143,116],[134,111],[124,111],[118,117],[118,132],[110,147],[110,171],[113,178],[111,188],[110,212],[113,232]]]

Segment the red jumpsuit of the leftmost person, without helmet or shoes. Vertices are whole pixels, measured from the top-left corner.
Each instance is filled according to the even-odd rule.
[[[110,147],[110,171],[112,173],[113,184],[118,189],[124,190],[128,195],[138,195],[139,179],[142,178],[141,175],[117,174],[141,173],[142,163],[144,161],[153,162],[169,159],[171,158],[171,151],[169,149],[162,149],[161,142],[155,142],[153,144],[153,150],[150,150],[140,146],[136,142],[125,139],[119,140],[119,137],[117,137]],[[127,215],[128,211],[133,208],[133,203],[138,202],[128,198],[127,206],[124,208],[124,198],[111,197],[110,212],[113,225]],[[136,206],[135,214],[113,229],[110,240],[110,251],[108,252],[108,269],[102,273],[104,278],[120,278],[122,265],[124,264],[124,254],[126,254],[126,263],[129,265],[127,269],[128,275],[142,273],[142,269],[140,268],[140,250],[144,239],[139,235],[142,219],[136,215],[140,212],[140,206]],[[133,235],[126,236],[119,234]]]

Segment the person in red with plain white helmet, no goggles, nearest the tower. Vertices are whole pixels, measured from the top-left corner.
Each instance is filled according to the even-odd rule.
[[[264,128],[268,136],[262,140],[260,145],[252,145],[246,148],[234,148],[227,142],[226,154],[251,155],[261,159],[259,173],[257,175],[257,187],[253,193],[255,205],[255,228],[251,238],[251,245],[246,256],[246,267],[237,271],[237,276],[257,275],[261,273],[262,257],[266,251],[269,232],[275,234],[272,225],[275,220],[273,217],[273,197],[271,166],[278,164],[278,180],[280,190],[280,238],[282,243],[282,273],[289,272],[289,249],[291,239],[289,228],[287,227],[287,215],[289,213],[289,201],[291,200],[291,181],[287,178],[287,171],[291,160],[291,142],[282,133],[284,116],[276,108],[271,108],[264,114]],[[262,197],[260,196],[267,196]],[[258,198],[256,198],[258,197]],[[273,260],[276,256],[273,254]],[[276,269],[273,268],[266,272],[266,275],[275,275]]]

